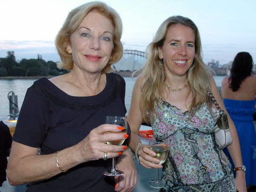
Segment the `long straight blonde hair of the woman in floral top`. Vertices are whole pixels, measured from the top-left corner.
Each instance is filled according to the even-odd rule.
[[[191,67],[187,71],[187,79],[190,84],[187,96],[192,93],[189,114],[193,116],[193,113],[190,112],[195,112],[202,102],[210,102],[207,90],[210,89],[211,75],[202,61],[202,47],[198,28],[189,18],[182,16],[169,17],[160,25],[153,41],[148,45],[146,50],[148,59],[139,75],[142,94],[140,107],[145,122],[150,121],[150,113],[155,113],[154,101],[163,98],[163,85],[166,77],[163,60],[158,57],[158,48],[163,46],[168,28],[173,24],[188,26],[195,32],[195,57]]]

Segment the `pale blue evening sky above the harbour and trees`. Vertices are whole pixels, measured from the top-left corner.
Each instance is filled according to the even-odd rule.
[[[55,37],[69,11],[87,0],[1,0],[0,57],[14,51],[16,60],[42,55],[59,61]],[[256,62],[255,0],[102,0],[123,23],[124,49],[145,51],[160,24],[182,15],[197,25],[205,63],[229,63],[238,52],[249,52]]]

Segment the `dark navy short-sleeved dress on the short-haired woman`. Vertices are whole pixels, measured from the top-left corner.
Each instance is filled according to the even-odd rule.
[[[113,73],[106,74],[106,79],[102,92],[87,97],[70,96],[46,78],[35,81],[26,93],[13,140],[41,148],[42,155],[55,153],[83,140],[105,123],[105,116],[125,116],[124,79]],[[31,183],[27,191],[113,192],[113,178],[103,175],[111,162],[100,159],[79,164],[68,172]]]

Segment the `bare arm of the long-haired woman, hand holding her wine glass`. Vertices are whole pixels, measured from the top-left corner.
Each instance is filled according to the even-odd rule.
[[[139,128],[143,122],[142,112],[140,108],[141,98],[141,87],[140,87],[140,77],[137,78],[134,89],[132,90],[132,100],[128,114],[128,122],[131,127],[131,137],[129,142],[129,147],[135,151],[136,146],[141,143],[141,140],[138,136]],[[145,168],[162,168],[161,165],[158,165],[159,159],[156,159],[156,153],[150,150],[146,145],[139,146],[137,153],[139,155],[139,163]],[[150,156],[149,156],[150,154]],[[155,162],[155,163],[152,163]]]

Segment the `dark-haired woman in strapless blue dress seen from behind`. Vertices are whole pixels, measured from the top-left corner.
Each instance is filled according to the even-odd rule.
[[[252,66],[252,56],[239,52],[232,63],[230,76],[221,84],[224,105],[239,137],[247,186],[256,185],[256,134],[252,117],[256,103],[256,75],[252,74]],[[230,157],[228,151],[224,151]]]

